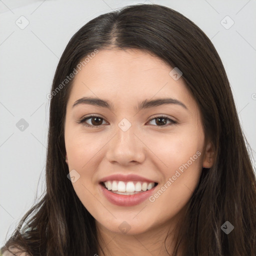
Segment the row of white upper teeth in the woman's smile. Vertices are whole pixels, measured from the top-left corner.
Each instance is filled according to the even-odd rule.
[[[140,181],[117,181],[117,180],[108,180],[104,182],[106,188],[112,191],[118,192],[139,192],[141,190],[146,191],[151,189],[154,186],[154,182],[140,182]]]

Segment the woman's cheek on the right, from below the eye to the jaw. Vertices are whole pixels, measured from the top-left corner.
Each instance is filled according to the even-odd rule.
[[[168,214],[175,214],[187,203],[198,184],[202,170],[203,137],[199,128],[190,127],[182,132],[180,130],[179,134],[170,134],[168,139],[166,136],[158,137],[157,143],[152,141],[152,144],[163,163],[158,165],[163,179],[149,200],[156,211],[164,208]]]

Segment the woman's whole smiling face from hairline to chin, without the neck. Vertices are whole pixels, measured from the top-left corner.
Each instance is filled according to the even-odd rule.
[[[104,49],[75,75],[66,162],[82,204],[110,231],[171,223],[211,166],[199,109],[172,69],[137,49]]]

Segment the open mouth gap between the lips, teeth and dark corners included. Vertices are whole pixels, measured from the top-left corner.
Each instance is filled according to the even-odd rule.
[[[154,188],[158,183],[156,182],[142,182],[142,181],[121,181],[121,180],[107,180],[100,182],[100,184],[107,190],[123,195],[132,195],[141,193]]]

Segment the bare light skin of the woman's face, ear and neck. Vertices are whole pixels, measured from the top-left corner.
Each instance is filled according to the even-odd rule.
[[[211,142],[205,139],[199,108],[186,88],[182,76],[174,80],[172,67],[145,51],[103,49],[75,75],[66,106],[64,137],[66,163],[80,177],[72,183],[84,207],[96,220],[98,235],[107,255],[168,255],[164,238],[168,230],[178,228],[187,202],[199,181],[202,167],[212,161]],[[91,96],[108,100],[113,109],[74,102]],[[178,104],[164,104],[137,111],[145,99],[172,97]],[[103,118],[101,125],[87,119],[90,114]],[[165,125],[156,119],[165,115]],[[118,123],[126,118],[131,126],[123,131]],[[199,151],[197,159],[153,202],[134,206],[110,203],[99,190],[100,178],[114,173],[138,174],[155,180],[159,188],[176,170]],[[126,221],[130,229],[118,228]],[[167,239],[173,249],[174,237]],[[106,245],[107,244],[107,245]],[[150,254],[151,253],[151,254]]]

